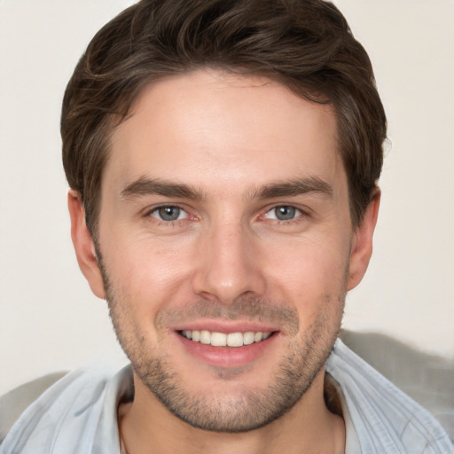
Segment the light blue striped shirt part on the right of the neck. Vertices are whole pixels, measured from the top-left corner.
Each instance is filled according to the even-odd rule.
[[[360,448],[355,446],[348,454],[454,453],[438,421],[341,340],[334,345],[326,372],[339,384],[351,419],[347,437],[355,438],[354,428],[359,441]]]

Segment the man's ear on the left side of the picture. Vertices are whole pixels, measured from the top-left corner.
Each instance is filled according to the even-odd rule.
[[[103,278],[99,270],[95,244],[90,230],[85,223],[85,212],[82,206],[81,194],[71,189],[67,194],[67,207],[71,217],[71,239],[79,268],[88,280],[91,291],[98,298],[106,299]]]

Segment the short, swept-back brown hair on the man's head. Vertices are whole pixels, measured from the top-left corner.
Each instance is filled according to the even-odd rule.
[[[371,61],[339,10],[322,0],[142,0],[95,35],[63,101],[63,164],[92,233],[114,127],[145,84],[197,67],[264,74],[333,106],[351,218],[361,222],[387,121]]]

